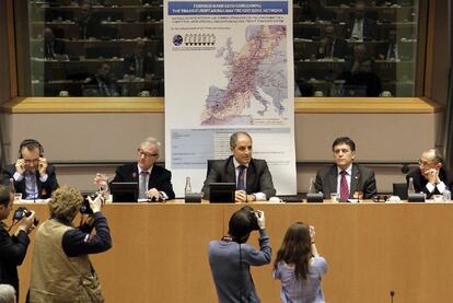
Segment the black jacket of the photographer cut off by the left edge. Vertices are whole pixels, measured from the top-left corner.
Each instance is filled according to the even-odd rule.
[[[28,235],[20,232],[18,236],[10,234],[0,223],[0,284],[10,284],[15,289],[19,298],[18,266],[25,259],[30,244]]]

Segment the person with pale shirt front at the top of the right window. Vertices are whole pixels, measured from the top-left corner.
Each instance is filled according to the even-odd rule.
[[[347,38],[351,40],[374,40],[378,37],[378,25],[373,19],[367,18],[367,5],[363,1],[357,1],[355,13],[348,22]]]

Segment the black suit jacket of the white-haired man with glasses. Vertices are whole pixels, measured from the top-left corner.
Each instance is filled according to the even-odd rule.
[[[116,168],[115,178],[112,182],[139,182],[139,173],[137,162],[129,163]],[[175,198],[172,185],[172,173],[164,167],[153,165],[148,183],[148,188],[155,188],[159,191],[164,191],[169,199]],[[137,188],[138,191],[138,188]],[[118,195],[117,200],[133,202],[133,197],[130,195]]]

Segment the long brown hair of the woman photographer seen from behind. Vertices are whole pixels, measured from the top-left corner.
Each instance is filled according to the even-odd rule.
[[[297,222],[288,228],[274,266],[277,267],[279,261],[294,265],[295,278],[305,279],[309,272],[309,260],[311,257],[312,238],[310,236],[310,226]]]

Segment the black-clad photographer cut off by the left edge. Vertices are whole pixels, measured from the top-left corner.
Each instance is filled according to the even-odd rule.
[[[10,284],[15,289],[19,296],[18,265],[25,258],[26,249],[30,244],[28,233],[34,229],[35,218],[32,211],[28,217],[19,221],[19,226],[14,235],[10,236],[3,220],[12,210],[14,193],[8,186],[0,185],[0,283]]]

